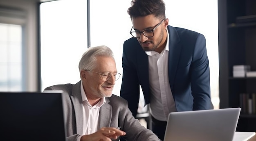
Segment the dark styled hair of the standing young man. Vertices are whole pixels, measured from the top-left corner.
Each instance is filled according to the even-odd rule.
[[[165,4],[163,0],[132,0],[131,5],[127,11],[130,18],[153,14],[161,20],[165,19]]]

